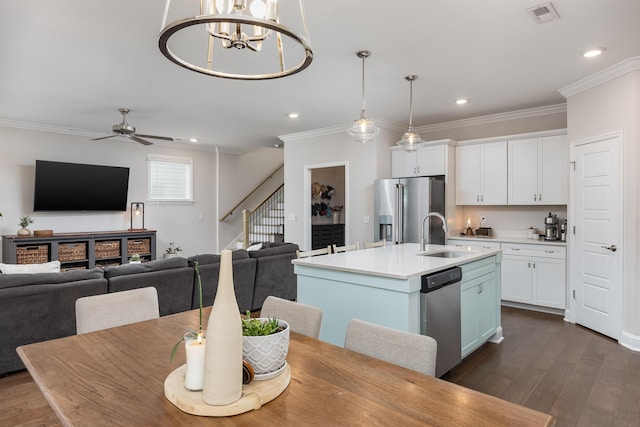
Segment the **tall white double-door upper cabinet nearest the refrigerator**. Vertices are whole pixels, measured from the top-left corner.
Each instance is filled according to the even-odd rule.
[[[507,142],[456,147],[456,204],[507,204]]]

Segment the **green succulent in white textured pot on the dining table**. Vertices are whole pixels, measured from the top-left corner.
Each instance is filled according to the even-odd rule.
[[[289,351],[289,324],[277,318],[242,319],[242,358],[249,362],[255,379],[277,376],[285,366]]]

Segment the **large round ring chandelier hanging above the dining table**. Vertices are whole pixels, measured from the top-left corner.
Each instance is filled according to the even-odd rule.
[[[158,46],[181,67],[238,80],[289,76],[313,60],[302,0],[167,0]]]

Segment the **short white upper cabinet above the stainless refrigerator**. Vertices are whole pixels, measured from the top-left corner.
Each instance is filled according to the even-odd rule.
[[[418,151],[391,151],[391,177],[433,176],[445,174],[446,144],[428,145]]]

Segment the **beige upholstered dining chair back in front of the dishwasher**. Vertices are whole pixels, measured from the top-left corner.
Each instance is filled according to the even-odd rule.
[[[344,338],[344,348],[435,376],[438,344],[426,335],[351,319]]]

